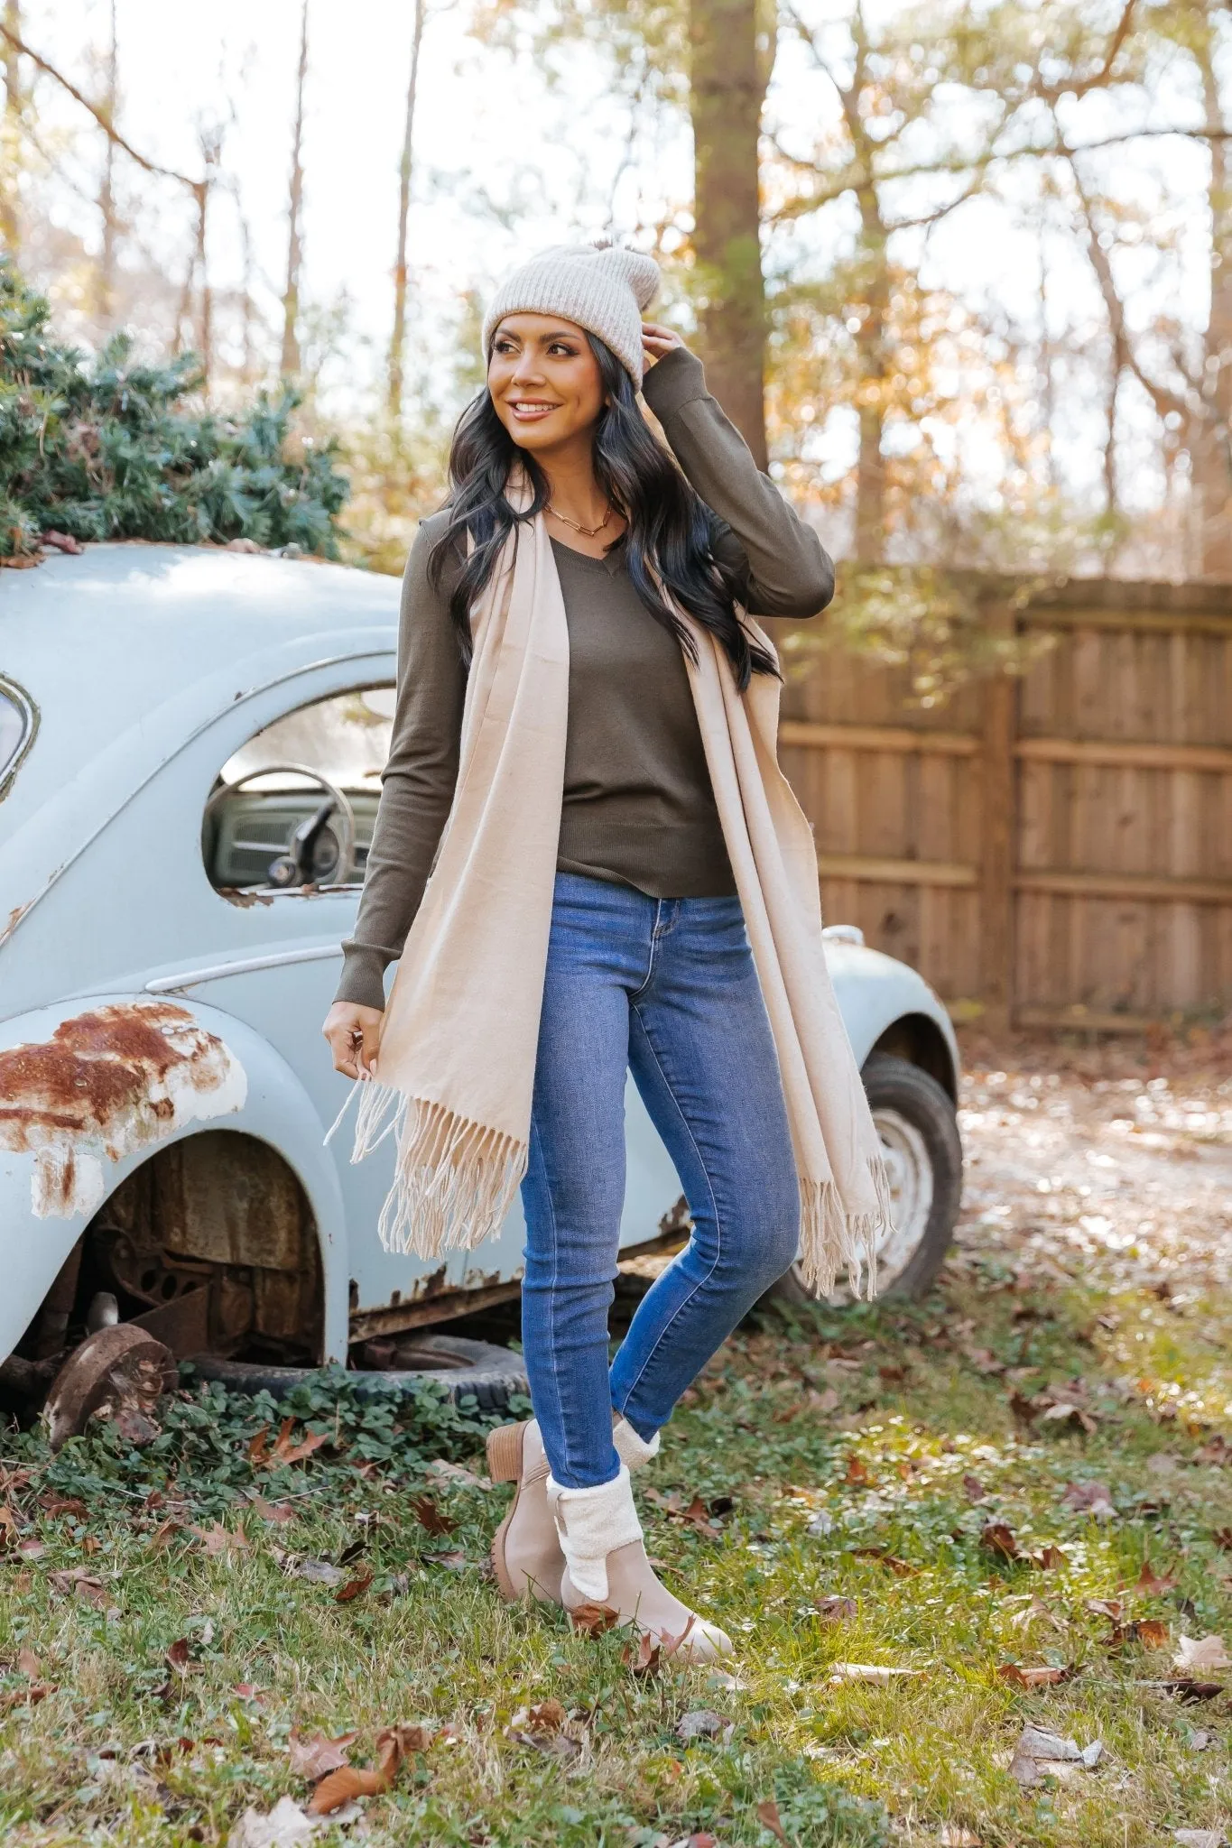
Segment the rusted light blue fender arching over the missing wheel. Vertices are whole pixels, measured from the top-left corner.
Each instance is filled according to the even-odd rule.
[[[347,1223],[323,1124],[268,1040],[179,996],[100,994],[0,1024],[0,1356],[26,1332],[98,1209],[157,1148],[194,1131],[268,1142],[312,1209],[325,1358],[347,1351]]]

